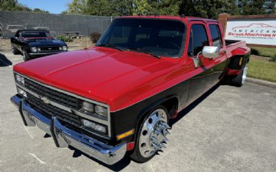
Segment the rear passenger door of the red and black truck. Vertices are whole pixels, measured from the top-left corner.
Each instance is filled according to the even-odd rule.
[[[219,23],[217,22],[210,22],[208,23],[208,28],[210,31],[210,37],[212,38],[212,46],[219,47],[219,56],[217,58],[210,59],[213,61],[213,84],[215,85],[219,82],[224,69],[226,69],[227,61],[226,61],[226,45],[224,41],[222,41],[223,35],[221,34],[219,27]]]

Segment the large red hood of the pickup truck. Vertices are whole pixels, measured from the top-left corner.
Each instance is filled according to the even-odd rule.
[[[107,103],[111,110],[115,110],[122,106],[118,103],[140,94],[141,90],[138,89],[143,88],[146,91],[155,86],[150,83],[145,85],[146,82],[164,82],[157,82],[157,76],[168,72],[177,61],[169,58],[157,59],[137,52],[119,52],[95,47],[20,63],[14,66],[14,71],[53,87]],[[124,97],[124,100],[119,100],[120,96]],[[112,107],[112,101],[115,100],[117,105]]]

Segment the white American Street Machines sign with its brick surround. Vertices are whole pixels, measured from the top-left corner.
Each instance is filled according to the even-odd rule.
[[[225,15],[225,16],[223,16]],[[246,41],[249,45],[276,47],[276,16],[239,16],[222,14],[225,39]]]

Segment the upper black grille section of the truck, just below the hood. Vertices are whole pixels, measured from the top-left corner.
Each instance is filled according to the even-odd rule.
[[[46,97],[55,103],[59,103],[59,105],[63,105],[64,107],[68,107],[70,109],[79,109],[80,100],[74,96],[57,92],[54,89],[40,85],[39,83],[29,80],[28,78],[25,78],[25,87],[41,97]]]

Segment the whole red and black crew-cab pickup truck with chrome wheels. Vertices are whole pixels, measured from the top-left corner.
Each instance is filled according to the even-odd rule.
[[[15,65],[11,101],[57,147],[146,162],[168,143],[177,112],[220,80],[244,84],[249,53],[213,19],[120,17],[95,47]]]

